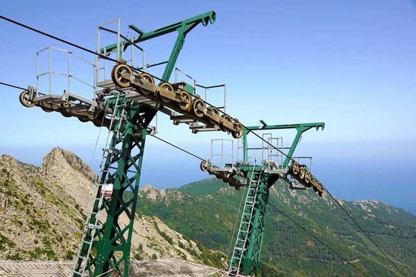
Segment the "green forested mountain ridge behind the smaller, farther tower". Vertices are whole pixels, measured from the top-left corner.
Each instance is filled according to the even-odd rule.
[[[139,191],[137,211],[155,215],[175,231],[229,255],[245,193],[215,178],[167,190],[145,186]],[[338,202],[406,276],[416,276],[415,215],[376,200]],[[269,203],[365,274],[401,276],[330,197],[320,198],[313,190],[289,190],[277,181],[270,188]],[[261,260],[263,269],[270,267],[275,274],[263,276],[363,275],[272,206]]]

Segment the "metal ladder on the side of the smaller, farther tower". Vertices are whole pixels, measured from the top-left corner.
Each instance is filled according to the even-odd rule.
[[[234,245],[232,258],[229,261],[227,276],[239,276],[241,259],[243,258],[244,251],[246,250],[245,242],[247,242],[248,233],[250,231],[251,221],[254,213],[254,205],[256,204],[257,192],[259,190],[261,176],[263,175],[263,170],[266,163],[263,162],[262,164],[263,165],[261,166],[261,170],[259,172],[259,179],[250,179],[247,197],[245,197],[243,214],[241,215],[239,233],[237,235],[236,244]],[[253,166],[252,177],[254,175],[254,168],[255,166]],[[234,262],[237,262],[237,265],[234,265]]]

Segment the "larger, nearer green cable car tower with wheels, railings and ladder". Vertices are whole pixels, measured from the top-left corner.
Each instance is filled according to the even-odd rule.
[[[146,136],[157,132],[150,122],[158,111],[170,116],[175,125],[189,125],[194,133],[200,130],[221,130],[230,132],[235,138],[243,136],[241,123],[232,120],[227,114],[220,116],[220,107],[212,107],[196,95],[195,84],[168,82],[187,34],[199,24],[207,26],[215,21],[216,13],[210,11],[148,33],[130,25],[129,28],[137,33],[131,39],[121,35],[119,19],[110,21],[98,26],[98,55],[95,64],[59,48],[49,47],[42,50],[49,52],[49,71],[40,73],[37,66],[36,87],[29,86],[20,94],[21,104],[25,107],[41,107],[46,112],[55,111],[64,117],[76,117],[81,122],[91,121],[97,127],[104,126],[109,130],[94,198],[73,268],[74,277],[110,274],[128,276],[145,141]],[[117,24],[116,30],[107,28],[109,24]],[[116,43],[101,47],[101,32],[115,34]],[[145,51],[137,44],[173,32],[177,32],[177,38],[168,60],[145,64]],[[133,50],[141,51],[141,66],[135,67]],[[37,59],[42,51],[37,52]],[[91,66],[94,83],[76,78],[69,65],[67,73],[52,71],[53,51],[67,53],[68,64],[71,59],[76,59]],[[128,51],[131,51],[130,59],[125,60]],[[113,62],[112,65],[108,64],[109,60]],[[165,65],[161,78],[144,72],[150,67],[160,65]],[[106,71],[111,68],[108,76]],[[68,78],[68,88],[63,95],[53,94],[53,74]],[[39,89],[39,80],[43,75],[49,75],[49,93],[42,93]],[[73,79],[92,87],[94,98],[90,100],[71,91],[70,81]],[[125,197],[126,192],[130,193],[130,197]]]

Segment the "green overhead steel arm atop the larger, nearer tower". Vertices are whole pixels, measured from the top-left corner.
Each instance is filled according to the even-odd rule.
[[[129,25],[132,30],[135,30],[139,35],[137,37],[132,38],[132,40],[124,40],[123,42],[120,42],[121,47],[123,48],[123,51],[125,51],[125,48],[130,46],[132,43],[139,43],[144,42],[148,39],[153,39],[155,37],[159,37],[161,35],[166,35],[168,33],[172,33],[177,31],[177,38],[175,41],[175,44],[173,46],[171,55],[169,57],[169,60],[167,62],[162,62],[159,64],[166,63],[166,67],[164,69],[164,73],[162,74],[162,80],[165,82],[168,82],[169,78],[171,78],[173,69],[175,69],[175,63],[177,60],[177,57],[182,50],[182,47],[184,46],[185,37],[187,36],[187,33],[189,33],[193,28],[195,28],[198,24],[202,23],[202,25],[207,26],[208,22],[211,24],[214,24],[216,21],[216,13],[214,10],[211,10],[210,12],[202,13],[201,15],[197,15],[196,17],[191,17],[189,19],[177,22],[175,24],[171,24],[169,26],[166,26],[164,28],[159,28],[157,30],[150,31],[148,33],[145,33],[144,31],[140,30],[134,25]],[[110,46],[106,46],[104,48],[100,49],[101,54],[109,53],[111,51],[116,50],[117,44],[112,44]]]

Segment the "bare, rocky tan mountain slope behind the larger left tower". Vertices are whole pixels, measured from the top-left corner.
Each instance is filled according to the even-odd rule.
[[[53,148],[39,168],[2,155],[0,260],[73,260],[95,179],[87,164],[61,148]],[[120,224],[126,220],[121,217]],[[181,258],[217,267],[225,261],[223,253],[146,215],[135,217],[131,258]]]

